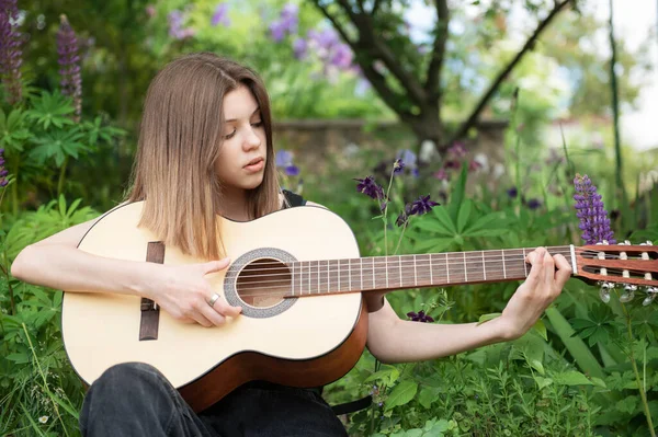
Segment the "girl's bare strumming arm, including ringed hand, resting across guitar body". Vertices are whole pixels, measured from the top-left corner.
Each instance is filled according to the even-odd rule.
[[[11,274],[25,283],[66,291],[116,292],[149,298],[174,319],[204,326],[224,323],[240,308],[219,299],[205,275],[228,266],[228,260],[186,265],[162,265],[92,255],[78,243],[99,218],[68,228],[23,249]]]

